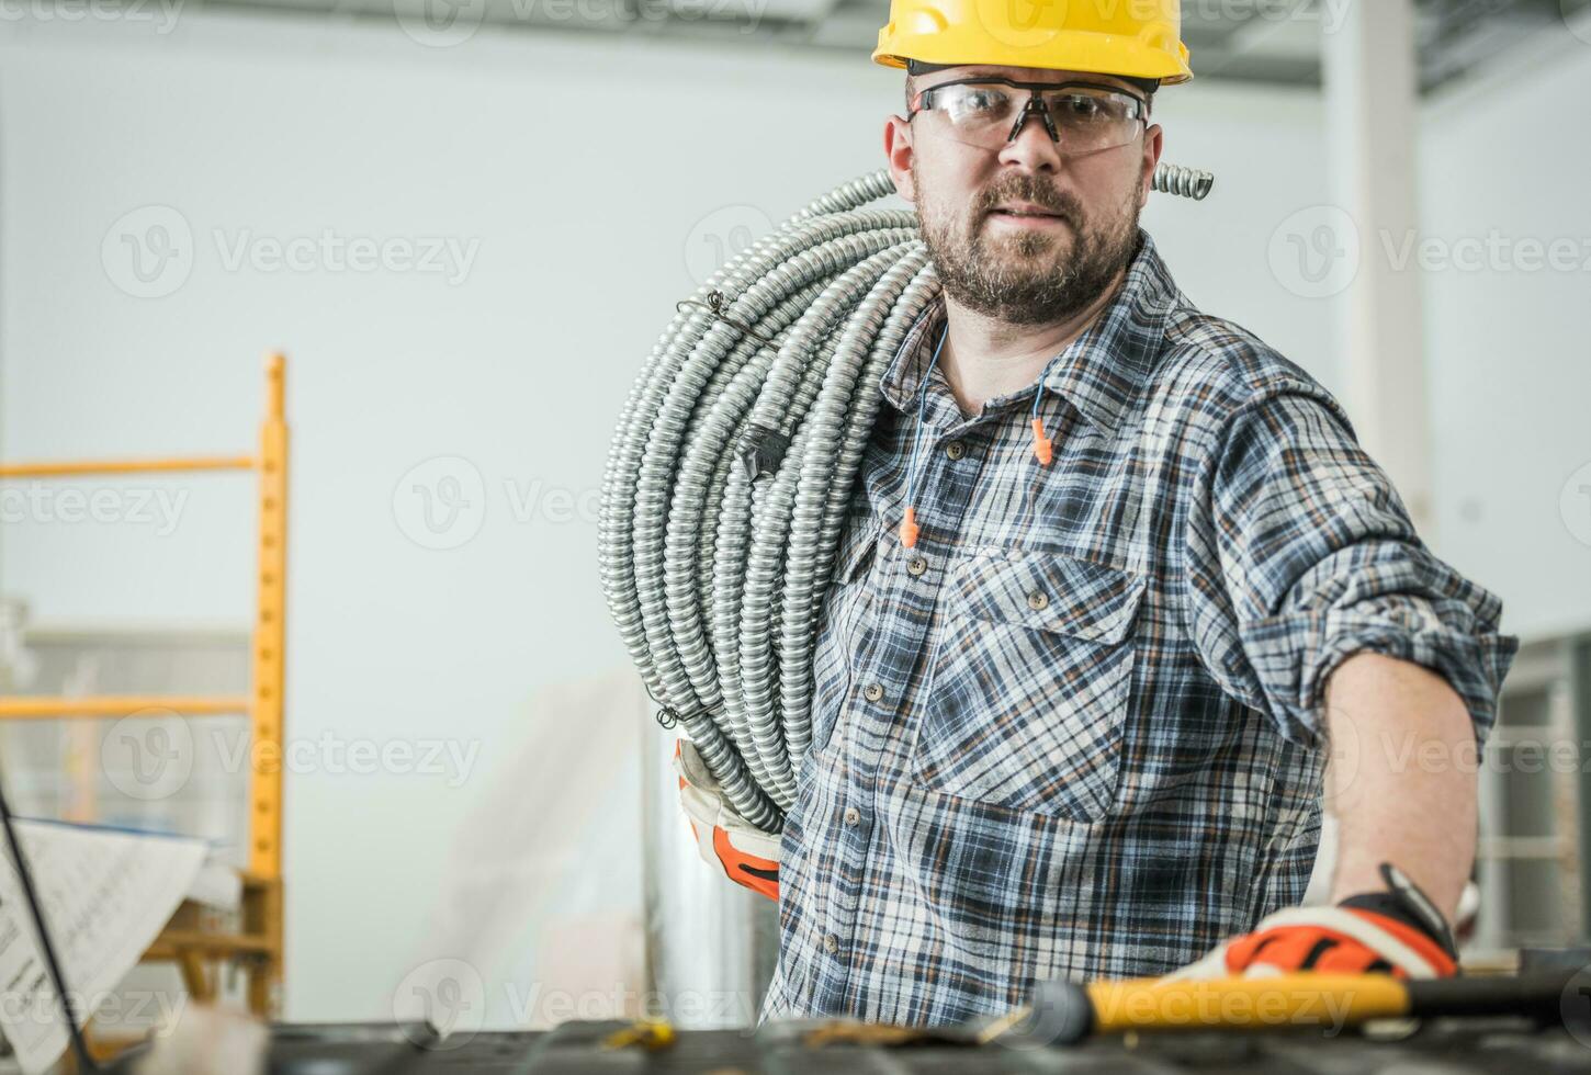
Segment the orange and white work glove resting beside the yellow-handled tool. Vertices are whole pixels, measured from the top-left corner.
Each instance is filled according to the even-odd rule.
[[[1457,951],[1430,898],[1392,863],[1386,892],[1336,906],[1293,906],[1266,916],[1252,933],[1219,945],[1165,978],[1271,978],[1297,972],[1394,978],[1451,978]]]

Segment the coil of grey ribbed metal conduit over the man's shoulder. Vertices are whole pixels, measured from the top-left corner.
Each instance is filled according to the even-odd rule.
[[[1203,199],[1209,173],[1155,189]],[[719,269],[652,347],[603,477],[608,609],[665,725],[776,832],[811,744],[816,612],[878,413],[878,382],[939,294],[883,170]]]

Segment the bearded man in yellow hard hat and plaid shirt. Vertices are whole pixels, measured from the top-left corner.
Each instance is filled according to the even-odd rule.
[[[875,52],[908,70],[885,151],[943,296],[883,378],[778,862],[716,833],[780,898],[764,1015],[1453,973],[1462,759],[1518,642],[1333,398],[1139,229],[1176,0],[1010,14],[894,0]],[[1297,908],[1328,751],[1335,906]]]

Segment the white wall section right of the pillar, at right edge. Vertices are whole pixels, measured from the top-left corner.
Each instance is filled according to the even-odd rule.
[[[1527,638],[1591,628],[1591,13],[1573,27],[1433,102],[1421,142],[1438,544]]]

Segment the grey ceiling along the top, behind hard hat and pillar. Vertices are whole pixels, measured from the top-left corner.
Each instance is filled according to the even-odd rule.
[[[1042,2],[1042,0],[1041,0]],[[1184,0],[1184,38],[1200,78],[1321,83],[1321,32],[1359,0]],[[398,19],[438,41],[476,27],[719,40],[741,48],[870,51],[888,0],[189,0],[191,8]],[[1433,89],[1542,32],[1591,0],[1416,0],[1421,83]]]

